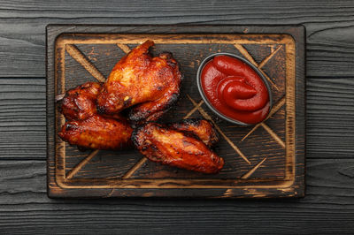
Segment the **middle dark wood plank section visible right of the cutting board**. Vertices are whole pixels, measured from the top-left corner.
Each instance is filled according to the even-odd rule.
[[[352,158],[354,80],[308,79],[306,153],[313,158]]]

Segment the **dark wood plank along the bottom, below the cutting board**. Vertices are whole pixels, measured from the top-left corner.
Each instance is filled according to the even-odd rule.
[[[353,169],[352,159],[310,159],[307,195],[297,200],[51,200],[44,162],[0,161],[0,226],[27,234],[351,233]]]

